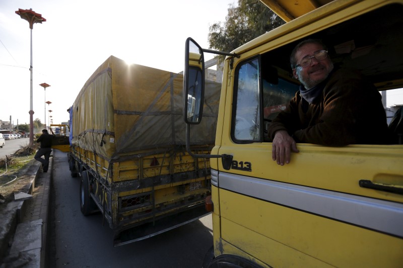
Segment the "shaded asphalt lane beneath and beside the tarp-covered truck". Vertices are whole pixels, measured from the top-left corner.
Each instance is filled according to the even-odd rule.
[[[100,213],[80,211],[80,178],[70,176],[65,153],[53,150],[49,267],[201,267],[213,244],[211,215],[143,241],[113,247]]]

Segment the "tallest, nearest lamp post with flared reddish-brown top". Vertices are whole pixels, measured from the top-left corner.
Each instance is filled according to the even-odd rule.
[[[31,29],[31,62],[30,62],[30,68],[29,70],[31,71],[31,91],[30,91],[30,96],[31,96],[31,102],[30,102],[30,111],[29,111],[29,145],[33,146],[34,145],[34,120],[33,120],[33,92],[32,92],[32,29],[34,29],[34,23],[42,23],[45,22],[46,19],[42,17],[41,14],[35,13],[32,11],[32,9],[29,10],[23,10],[23,9],[18,9],[16,11],[16,14],[21,17],[21,19],[28,21],[29,23],[29,29]]]

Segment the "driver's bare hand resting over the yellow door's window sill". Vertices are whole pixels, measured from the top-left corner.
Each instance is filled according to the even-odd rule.
[[[299,152],[295,140],[290,135],[288,135],[287,131],[285,130],[276,131],[272,145],[273,160],[277,160],[277,164],[279,165],[284,165],[284,162],[289,164],[291,158],[291,150],[293,152]]]

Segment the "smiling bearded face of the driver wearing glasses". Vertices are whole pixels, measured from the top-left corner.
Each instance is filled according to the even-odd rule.
[[[317,51],[323,50],[323,47],[315,43],[307,43],[299,48],[295,54],[297,64],[306,56],[313,56]],[[308,90],[326,79],[327,75],[333,69],[333,63],[326,57],[318,61],[316,58],[311,59],[311,63],[306,67],[296,67],[293,69],[294,77],[297,78]]]

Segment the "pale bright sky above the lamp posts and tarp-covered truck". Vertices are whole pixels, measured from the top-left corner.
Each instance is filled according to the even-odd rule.
[[[237,0],[1,0],[0,120],[29,124],[29,23],[32,9],[46,22],[32,30],[33,119],[69,120],[67,109],[92,73],[111,55],[171,72],[184,66],[187,37],[208,46],[209,26],[225,22]],[[206,53],[206,59],[214,55]],[[44,90],[39,84],[50,86]],[[45,104],[51,102],[50,105]],[[49,117],[48,110],[52,110]]]

